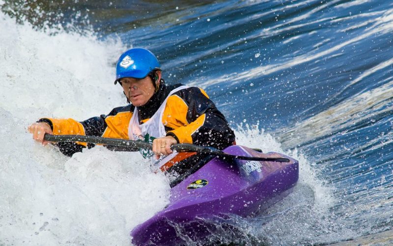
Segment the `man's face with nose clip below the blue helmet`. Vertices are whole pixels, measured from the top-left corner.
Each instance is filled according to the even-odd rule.
[[[122,78],[121,86],[128,100],[134,106],[143,106],[154,94],[153,81],[149,76],[144,79]]]

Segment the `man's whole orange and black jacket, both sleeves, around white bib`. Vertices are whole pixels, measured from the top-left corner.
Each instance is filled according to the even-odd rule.
[[[164,80],[159,90],[143,106],[137,107],[140,123],[149,120],[167,98],[170,91],[182,86],[167,86]],[[73,119],[43,118],[38,122],[49,123],[53,134],[89,135],[108,138],[129,139],[128,125],[135,106],[129,104],[114,108],[108,115],[93,117],[83,122]],[[180,90],[168,97],[162,119],[167,136],[173,136],[178,143],[191,143],[224,149],[235,141],[235,134],[224,115],[216,108],[206,92],[197,87]],[[83,148],[94,147],[86,143],[57,143],[60,151],[71,156]]]

